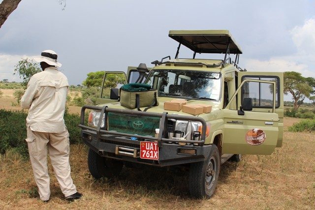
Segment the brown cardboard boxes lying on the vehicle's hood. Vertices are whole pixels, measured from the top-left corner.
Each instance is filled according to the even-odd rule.
[[[183,110],[182,110],[183,109]],[[180,111],[191,115],[199,115],[202,113],[210,113],[212,106],[206,104],[187,104],[185,99],[173,99],[164,102],[164,110]]]

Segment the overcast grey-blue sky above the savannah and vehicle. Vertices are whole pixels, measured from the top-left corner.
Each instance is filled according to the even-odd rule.
[[[58,0],[22,0],[0,28],[0,80],[20,81],[14,65],[51,49],[77,85],[92,71],[174,58],[169,30],[221,29],[241,46],[241,67],[315,77],[314,0],[66,0],[64,10]]]

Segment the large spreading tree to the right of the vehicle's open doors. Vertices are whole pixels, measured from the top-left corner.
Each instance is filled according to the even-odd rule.
[[[301,73],[294,71],[284,72],[284,94],[292,94],[294,100],[294,110],[298,110],[306,97],[310,97],[314,92],[314,86],[312,83],[315,79],[308,77],[305,78]]]

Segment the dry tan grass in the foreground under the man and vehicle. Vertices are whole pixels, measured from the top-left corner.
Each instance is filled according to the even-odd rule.
[[[296,119],[285,118],[288,126]],[[286,129],[285,129],[286,130]],[[51,200],[36,197],[29,161],[8,151],[0,160],[1,209],[315,209],[314,133],[284,132],[272,155],[244,155],[222,167],[213,198],[189,198],[188,173],[166,168],[127,169],[115,180],[94,180],[87,148],[71,146],[72,178],[81,200],[67,203],[51,175]],[[179,175],[181,174],[181,175]]]

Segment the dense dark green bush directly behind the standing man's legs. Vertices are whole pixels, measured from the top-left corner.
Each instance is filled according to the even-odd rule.
[[[23,111],[0,110],[0,153],[13,149],[18,151],[23,157],[28,157],[28,148],[25,141],[27,113]],[[65,114],[65,125],[70,134],[70,144],[78,144],[81,141],[80,116],[76,114]]]

